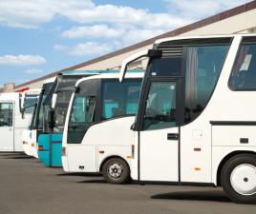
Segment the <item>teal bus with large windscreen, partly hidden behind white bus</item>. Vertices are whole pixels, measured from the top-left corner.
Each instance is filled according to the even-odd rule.
[[[62,166],[63,128],[76,81],[101,72],[117,72],[117,70],[66,70],[57,75],[53,88],[43,103],[43,120],[46,126],[38,137],[38,156],[44,165]]]

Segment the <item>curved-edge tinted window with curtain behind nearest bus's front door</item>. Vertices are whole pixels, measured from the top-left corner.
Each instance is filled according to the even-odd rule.
[[[185,123],[194,120],[206,107],[217,84],[229,46],[186,48]]]

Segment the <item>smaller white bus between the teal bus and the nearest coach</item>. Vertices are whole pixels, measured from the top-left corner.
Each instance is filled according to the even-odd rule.
[[[131,70],[124,84],[118,74],[83,78],[75,85],[63,135],[66,172],[102,172],[109,183],[130,180],[133,139],[143,70]]]

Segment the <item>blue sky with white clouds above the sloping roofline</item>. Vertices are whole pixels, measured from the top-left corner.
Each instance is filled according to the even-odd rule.
[[[0,0],[0,87],[75,66],[247,2]]]

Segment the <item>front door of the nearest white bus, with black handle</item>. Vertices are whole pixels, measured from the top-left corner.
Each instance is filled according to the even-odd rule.
[[[180,80],[156,78],[146,86],[139,119],[139,180],[179,181]]]

